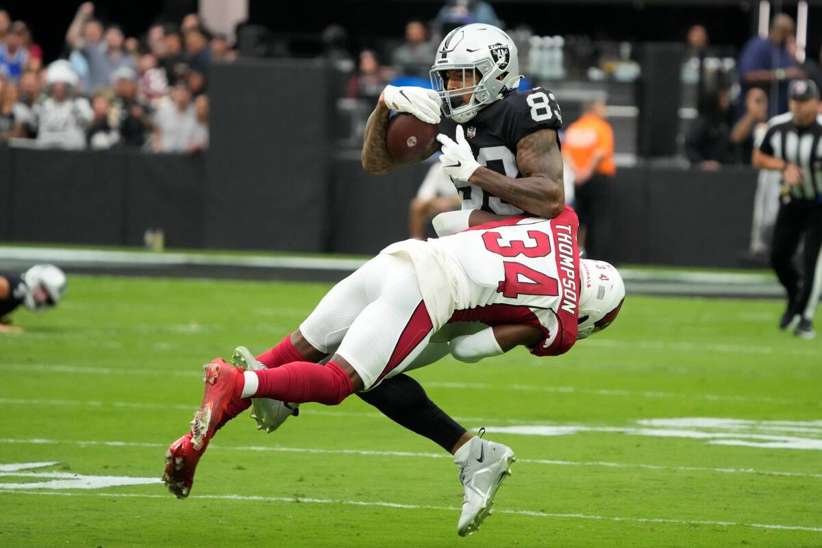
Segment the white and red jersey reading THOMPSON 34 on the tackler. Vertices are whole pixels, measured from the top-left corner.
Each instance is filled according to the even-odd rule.
[[[434,330],[455,321],[524,324],[545,338],[532,352],[566,352],[576,340],[580,297],[578,221],[516,217],[383,253],[411,260]]]

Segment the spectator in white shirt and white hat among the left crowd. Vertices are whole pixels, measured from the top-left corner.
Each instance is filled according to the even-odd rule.
[[[88,99],[75,96],[78,78],[69,62],[59,60],[48,66],[48,97],[35,104],[31,125],[42,147],[85,149],[85,127],[93,113]]]

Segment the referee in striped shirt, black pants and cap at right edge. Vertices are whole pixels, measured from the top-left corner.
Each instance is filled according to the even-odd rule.
[[[787,291],[781,329],[814,338],[816,305],[822,292],[822,114],[814,81],[795,80],[788,88],[790,112],[768,122],[753,164],[782,172],[782,204],[774,227],[771,265]],[[794,264],[804,234],[802,273]]]

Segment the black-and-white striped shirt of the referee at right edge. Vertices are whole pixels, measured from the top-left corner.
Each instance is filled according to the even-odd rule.
[[[760,150],[801,168],[802,182],[787,187],[792,198],[822,203],[822,116],[808,127],[796,127],[792,113],[771,118]]]

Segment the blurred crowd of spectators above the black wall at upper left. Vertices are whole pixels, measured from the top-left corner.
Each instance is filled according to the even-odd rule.
[[[196,153],[209,143],[210,62],[236,57],[196,14],[127,37],[85,2],[44,64],[29,26],[0,11],[0,141]]]

